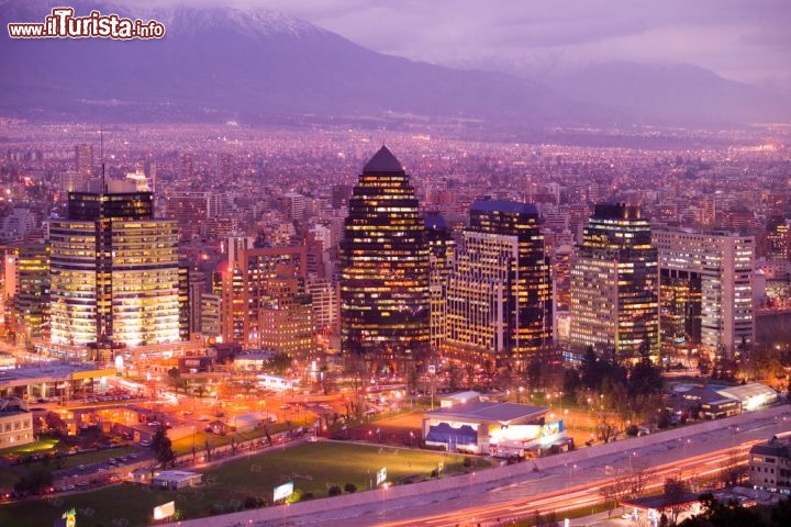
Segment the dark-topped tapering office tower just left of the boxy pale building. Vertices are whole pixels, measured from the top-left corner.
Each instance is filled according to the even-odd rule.
[[[571,344],[658,359],[657,293],[657,251],[640,208],[595,205],[571,258]]]

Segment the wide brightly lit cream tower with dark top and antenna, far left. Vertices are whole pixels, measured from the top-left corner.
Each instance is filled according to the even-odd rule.
[[[69,194],[49,243],[54,344],[108,350],[179,340],[178,231],[154,218],[152,192],[94,180],[90,191]]]

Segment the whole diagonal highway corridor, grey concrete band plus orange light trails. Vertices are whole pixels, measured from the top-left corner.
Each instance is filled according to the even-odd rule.
[[[694,486],[698,480],[716,475],[733,450],[744,462],[754,444],[789,429],[791,405],[786,404],[502,469],[180,524],[489,527],[498,519],[524,518],[534,511],[562,513],[599,503],[600,487],[624,476],[637,463],[653,468],[646,492],[658,489],[669,476],[682,478]],[[623,525],[623,520],[610,525]]]

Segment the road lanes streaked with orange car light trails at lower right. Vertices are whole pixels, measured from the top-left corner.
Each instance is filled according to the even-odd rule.
[[[543,458],[543,462],[554,464],[505,481],[477,483],[475,475],[456,476],[458,485],[454,491],[399,501],[382,500],[375,511],[354,517],[355,525],[477,526],[478,523],[494,524],[498,518],[530,516],[534,511],[562,512],[586,507],[601,502],[599,489],[612,482],[614,476],[626,473],[635,460],[656,469],[648,483],[649,490],[657,489],[670,476],[694,481],[716,475],[733,450],[738,450],[740,461],[746,462],[754,444],[791,429],[791,406],[744,414],[738,426],[732,424],[733,419],[715,423],[722,426],[708,433],[701,433],[697,426],[682,428],[678,431],[683,437],[672,440],[666,439],[667,434],[645,437],[643,439],[650,438],[654,442],[642,448],[632,446],[638,441],[619,441],[620,450],[605,456],[597,455],[599,448],[582,449],[580,453],[590,452],[590,457],[571,466],[564,461],[570,455]],[[267,525],[315,525],[349,517],[348,512],[327,511]]]

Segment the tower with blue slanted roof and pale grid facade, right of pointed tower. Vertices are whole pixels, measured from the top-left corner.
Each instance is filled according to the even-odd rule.
[[[533,205],[477,200],[447,292],[446,345],[523,371],[552,341],[549,269]]]

